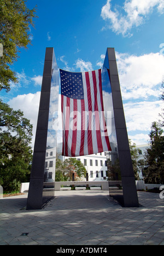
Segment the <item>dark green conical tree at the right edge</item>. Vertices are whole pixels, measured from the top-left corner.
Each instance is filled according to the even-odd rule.
[[[161,125],[154,122],[150,132],[150,148],[145,154],[144,180],[147,183],[164,183],[164,137]]]

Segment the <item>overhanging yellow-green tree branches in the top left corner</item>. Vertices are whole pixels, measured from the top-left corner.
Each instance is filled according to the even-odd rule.
[[[10,83],[16,83],[16,73],[10,68],[17,60],[20,48],[31,44],[30,31],[34,26],[36,8],[28,9],[24,0],[0,0],[0,43],[3,57],[0,57],[0,91],[10,90]]]

